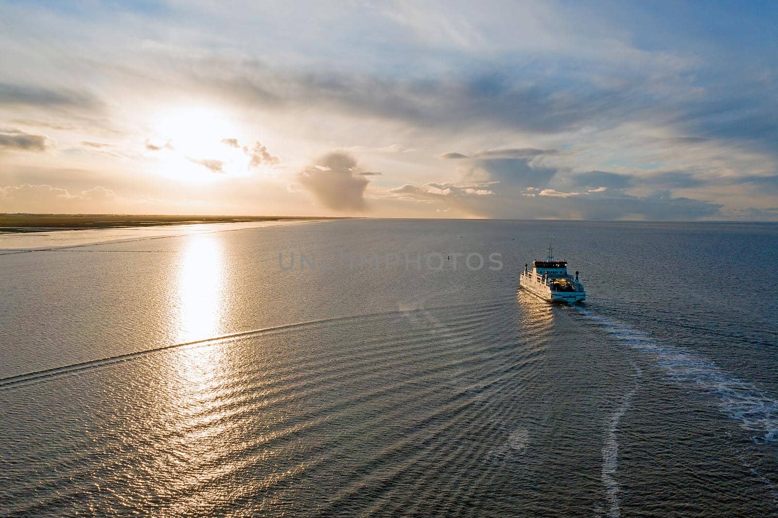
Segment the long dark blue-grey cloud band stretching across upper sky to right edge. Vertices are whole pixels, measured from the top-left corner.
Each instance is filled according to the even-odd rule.
[[[621,51],[626,56],[636,50],[622,47]],[[650,58],[647,54],[639,57]],[[537,142],[559,143],[565,149],[563,153],[541,147],[450,151],[443,153],[442,159],[558,156],[557,162],[564,160],[572,170],[604,163],[626,164],[636,170],[622,179],[630,185],[594,184],[590,188],[640,187],[642,177],[652,177],[657,165],[665,170],[697,167],[702,171],[712,163],[706,154],[716,152],[717,147],[717,168],[727,167],[726,174],[731,176],[748,173],[739,164],[745,159],[738,157],[749,150],[759,153],[746,157],[748,166],[759,168],[757,173],[774,166],[778,156],[765,145],[764,138],[778,135],[778,126],[772,122],[773,118],[778,120],[773,117],[778,115],[774,103],[752,96],[751,104],[731,99],[731,104],[720,103],[714,109],[706,100],[726,97],[727,89],[710,90],[694,84],[687,74],[693,72],[691,65],[699,64],[676,62],[673,56],[655,57],[648,59],[646,70],[623,61],[619,61],[626,65],[623,70],[606,67],[592,72],[587,72],[583,62],[568,63],[564,70],[548,64],[537,70],[517,66],[515,73],[490,72],[485,65],[478,74],[462,70],[427,74],[422,79],[377,76],[348,68],[296,72],[258,63],[240,68],[231,81],[237,82],[234,99],[253,100],[252,90],[257,85],[262,102],[271,110],[324,111],[347,121],[358,118],[373,123],[378,119],[395,124],[400,131],[424,132],[432,139],[454,132],[475,139],[482,132],[514,131],[522,135],[520,138],[528,135]],[[228,96],[231,88],[228,83],[219,83]],[[463,121],[468,121],[469,131],[463,129]],[[721,130],[706,130],[706,121],[713,123],[711,128]],[[353,121],[350,124],[359,127]],[[678,136],[667,136],[674,133]],[[721,144],[741,151],[727,156]],[[696,182],[696,187],[705,187],[708,174],[685,178],[668,175],[646,185],[693,188]],[[710,176],[715,175],[712,170]]]

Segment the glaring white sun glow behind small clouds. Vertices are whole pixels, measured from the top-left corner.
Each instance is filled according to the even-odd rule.
[[[152,117],[151,126],[146,154],[156,161],[160,176],[203,183],[250,173],[239,128],[220,110],[165,110]]]

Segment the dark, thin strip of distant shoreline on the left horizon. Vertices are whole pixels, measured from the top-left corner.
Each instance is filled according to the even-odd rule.
[[[321,216],[116,215],[116,214],[0,214],[0,233],[57,230],[121,229],[196,223],[270,222],[342,219]]]

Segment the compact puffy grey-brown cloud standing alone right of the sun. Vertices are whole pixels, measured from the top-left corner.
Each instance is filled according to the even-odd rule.
[[[369,183],[356,159],[344,152],[321,156],[300,171],[297,179],[321,205],[335,211],[363,211]]]

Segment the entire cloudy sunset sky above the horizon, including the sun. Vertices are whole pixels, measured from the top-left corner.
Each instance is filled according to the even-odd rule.
[[[778,221],[775,2],[0,2],[0,212]]]

